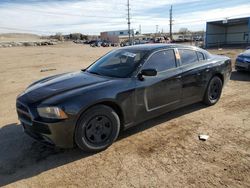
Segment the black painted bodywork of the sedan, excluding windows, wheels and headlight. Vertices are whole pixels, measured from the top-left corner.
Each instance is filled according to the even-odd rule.
[[[17,98],[18,117],[24,131],[41,142],[59,147],[74,146],[74,131],[81,114],[96,104],[114,108],[126,129],[168,111],[202,101],[209,80],[218,75],[223,84],[231,74],[231,61],[194,47],[182,45],[138,45],[126,47],[147,51],[141,66],[154,52],[162,49],[192,49],[200,51],[206,60],[158,72],[156,76],[137,75],[131,78],[111,78],[86,71],[65,73],[39,80]],[[124,48],[124,49],[126,49]],[[139,73],[140,70],[138,70]],[[39,117],[37,107],[57,106],[68,115],[65,120]]]

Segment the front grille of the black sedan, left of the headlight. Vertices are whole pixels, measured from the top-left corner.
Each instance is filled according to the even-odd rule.
[[[32,125],[32,117],[29,112],[29,109],[25,105],[20,103],[19,101],[17,101],[16,103],[16,109],[17,109],[17,115],[20,121],[25,124]]]

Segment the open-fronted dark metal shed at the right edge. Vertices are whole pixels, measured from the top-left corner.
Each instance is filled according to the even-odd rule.
[[[250,45],[250,17],[207,22],[205,46]]]

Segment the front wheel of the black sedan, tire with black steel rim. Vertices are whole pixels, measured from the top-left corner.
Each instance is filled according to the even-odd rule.
[[[120,119],[117,113],[106,105],[96,105],[78,120],[75,142],[83,151],[98,152],[108,148],[119,132]]]

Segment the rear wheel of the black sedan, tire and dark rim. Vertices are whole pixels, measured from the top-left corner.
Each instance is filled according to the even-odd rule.
[[[209,106],[216,104],[220,99],[222,86],[222,80],[214,76],[208,83],[203,102]]]

